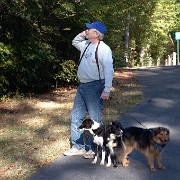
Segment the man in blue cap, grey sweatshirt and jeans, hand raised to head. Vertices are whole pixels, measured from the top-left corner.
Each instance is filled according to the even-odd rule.
[[[80,84],[71,112],[72,148],[64,152],[64,155],[93,158],[91,146],[86,153],[83,132],[78,131],[77,127],[81,125],[87,113],[91,119],[102,123],[103,100],[109,98],[114,69],[111,49],[102,41],[106,26],[95,21],[86,23],[86,27],[88,29],[72,41],[72,45],[81,52],[77,72]]]

